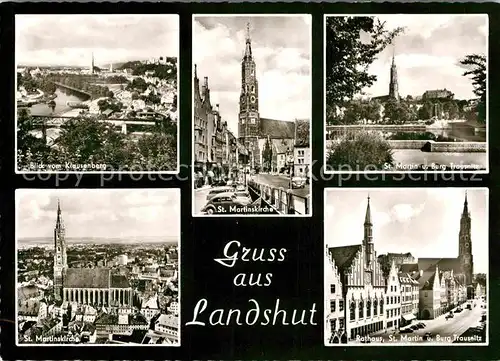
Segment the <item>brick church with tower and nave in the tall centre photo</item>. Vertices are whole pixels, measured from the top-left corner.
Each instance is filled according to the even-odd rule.
[[[276,104],[276,106],[283,107],[286,104]],[[258,167],[263,164],[262,152],[268,140],[272,143],[273,149],[286,147],[292,152],[297,138],[297,122],[298,120],[283,121],[261,117],[259,83],[252,54],[250,25],[247,24],[245,53],[241,62],[238,138],[250,153],[250,165]]]

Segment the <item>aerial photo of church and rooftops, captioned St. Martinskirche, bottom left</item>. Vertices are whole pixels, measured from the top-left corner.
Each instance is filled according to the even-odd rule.
[[[180,191],[16,191],[17,344],[180,345]]]

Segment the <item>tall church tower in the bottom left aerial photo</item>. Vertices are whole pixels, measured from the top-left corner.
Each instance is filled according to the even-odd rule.
[[[57,219],[54,228],[54,298],[62,299],[63,277],[68,260],[66,256],[66,230],[61,214],[61,204],[57,200]]]

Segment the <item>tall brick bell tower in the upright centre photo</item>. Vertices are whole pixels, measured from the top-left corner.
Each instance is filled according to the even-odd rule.
[[[245,53],[241,61],[240,113],[238,119],[238,137],[245,144],[254,159],[260,159],[255,153],[258,150],[260,130],[259,117],[259,84],[252,55],[250,24],[247,24]]]

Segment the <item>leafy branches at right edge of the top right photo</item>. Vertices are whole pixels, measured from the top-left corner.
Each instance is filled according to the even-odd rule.
[[[467,55],[460,60],[460,64],[468,68],[463,76],[472,79],[474,94],[479,98],[478,120],[486,122],[486,56],[483,54]]]

